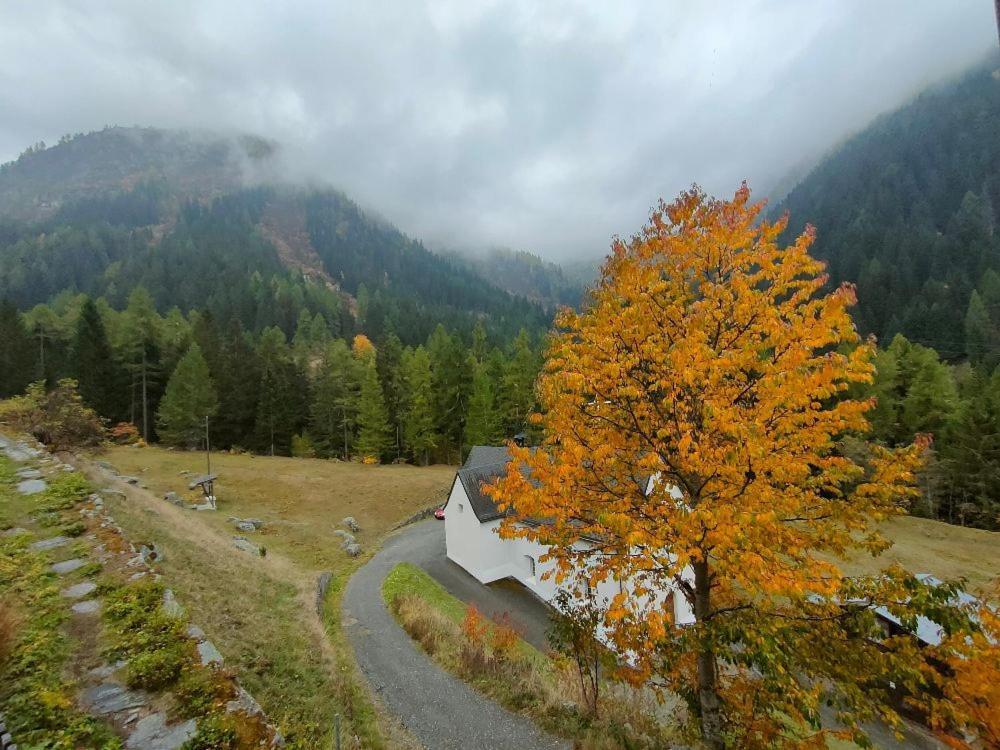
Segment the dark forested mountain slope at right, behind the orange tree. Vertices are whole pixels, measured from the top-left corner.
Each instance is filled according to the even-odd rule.
[[[790,233],[817,228],[815,253],[832,281],[857,284],[856,320],[886,344],[901,332],[953,360],[995,346],[998,67],[991,58],[881,117],[775,207]]]

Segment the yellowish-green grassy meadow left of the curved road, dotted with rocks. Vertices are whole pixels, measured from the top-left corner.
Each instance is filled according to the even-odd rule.
[[[110,510],[130,539],[155,541],[164,551],[159,567],[191,620],[291,747],[327,746],[335,713],[343,736],[357,736],[362,747],[408,744],[391,721],[379,721],[341,632],[341,592],[361,559],[349,558],[333,531],[353,516],[358,541],[374,550],[393,526],[442,499],[454,469],[213,455],[219,510],[201,513],[162,500],[168,491],[197,497],[181,472],[202,473],[201,454],[113,448],[96,458],[149,487],[118,483],[127,494],[111,496]],[[237,531],[230,516],[265,525],[258,533]],[[237,550],[236,534],[263,546],[266,556]],[[320,616],[315,586],[322,571],[333,578]]]

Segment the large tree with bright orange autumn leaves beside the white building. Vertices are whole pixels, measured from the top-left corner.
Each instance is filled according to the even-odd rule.
[[[628,582],[608,637],[634,680],[687,699],[709,747],[822,747],[863,740],[859,720],[898,725],[889,681],[927,681],[912,639],[881,639],[849,602],[910,621],[954,589],[831,561],[885,548],[872,525],[913,495],[922,445],[843,450],[868,430],[871,403],[851,393],[874,345],[854,290],[824,291],[813,231],[782,247],[785,221],[761,211],[746,185],[729,201],[692,189],[614,243],[589,306],[557,319],[542,445],[511,446],[488,491],[513,514],[501,536],[550,545],[563,587]],[[670,586],[693,626],[673,627]],[[821,726],[824,703],[847,729]]]

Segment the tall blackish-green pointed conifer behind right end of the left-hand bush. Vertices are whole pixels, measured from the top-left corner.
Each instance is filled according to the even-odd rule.
[[[121,408],[121,370],[111,351],[104,322],[89,297],[80,309],[70,347],[73,377],[84,402],[102,417],[118,420]]]

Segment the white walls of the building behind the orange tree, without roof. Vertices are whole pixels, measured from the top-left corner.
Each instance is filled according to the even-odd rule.
[[[541,561],[548,547],[528,539],[501,539],[497,534],[499,519],[480,523],[457,477],[445,506],[444,522],[448,559],[477,581],[485,584],[513,578],[544,601],[555,599],[558,586],[553,577],[545,578],[545,573],[554,570],[555,562]],[[617,580],[609,579],[598,585],[596,593],[599,599],[609,602],[621,590]],[[661,607],[672,593],[673,589],[663,592],[650,606]],[[694,613],[679,592],[673,597],[673,607],[674,622],[694,622]]]

